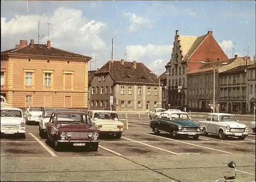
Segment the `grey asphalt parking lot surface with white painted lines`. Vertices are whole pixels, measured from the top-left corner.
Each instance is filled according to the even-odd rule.
[[[154,135],[147,118],[130,117],[129,123],[121,139],[101,139],[97,152],[55,152],[40,139],[38,125],[28,125],[26,139],[1,138],[1,180],[209,182],[232,176],[231,160],[237,164],[237,182],[255,180],[254,133],[243,141],[215,135],[174,140],[166,133]]]

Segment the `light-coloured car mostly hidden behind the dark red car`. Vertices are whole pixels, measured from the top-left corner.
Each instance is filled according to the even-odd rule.
[[[49,122],[53,111],[69,110],[67,108],[45,108],[39,122],[39,136],[41,139],[46,138],[46,123]]]

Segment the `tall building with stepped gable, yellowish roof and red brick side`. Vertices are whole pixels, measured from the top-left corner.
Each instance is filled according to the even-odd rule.
[[[202,36],[179,35],[174,38],[173,52],[170,61],[165,65],[167,76],[168,101],[170,108],[184,110],[187,107],[186,74],[202,66],[200,61],[217,61],[228,59],[212,31]]]

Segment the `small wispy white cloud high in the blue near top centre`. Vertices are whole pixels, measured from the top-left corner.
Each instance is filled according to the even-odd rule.
[[[147,26],[149,28],[153,27],[152,20],[148,18],[138,16],[135,13],[130,12],[124,12],[123,15],[129,18],[130,25],[128,29],[131,32],[136,32],[140,26]]]

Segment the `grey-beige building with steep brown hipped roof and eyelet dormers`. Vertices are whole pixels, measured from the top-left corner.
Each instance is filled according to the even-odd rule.
[[[158,80],[143,63],[110,60],[90,82],[90,108],[144,111],[161,107]]]

